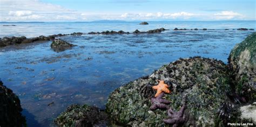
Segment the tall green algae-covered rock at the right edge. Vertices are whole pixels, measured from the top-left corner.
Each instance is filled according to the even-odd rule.
[[[246,101],[256,101],[256,33],[235,45],[228,58],[235,91]]]

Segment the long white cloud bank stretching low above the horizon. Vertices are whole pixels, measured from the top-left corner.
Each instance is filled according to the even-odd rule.
[[[114,0],[113,0],[114,1]],[[125,3],[127,1],[119,1]],[[135,2],[135,1],[134,1]],[[141,3],[148,1],[141,0]],[[193,12],[173,13],[86,13],[63,8],[59,5],[43,3],[38,0],[1,0],[0,21],[44,21],[44,22],[65,22],[65,21],[91,21],[91,20],[235,20],[244,19],[245,16],[234,11],[218,11],[206,14]]]

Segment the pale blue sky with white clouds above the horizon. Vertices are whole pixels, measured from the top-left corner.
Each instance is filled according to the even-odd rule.
[[[255,0],[0,0],[0,21],[256,20],[255,8]]]

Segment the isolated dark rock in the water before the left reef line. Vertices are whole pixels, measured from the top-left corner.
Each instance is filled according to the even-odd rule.
[[[72,48],[73,46],[76,46],[76,45],[70,44],[62,39],[55,39],[51,43],[51,48],[55,52],[62,52],[62,51]]]

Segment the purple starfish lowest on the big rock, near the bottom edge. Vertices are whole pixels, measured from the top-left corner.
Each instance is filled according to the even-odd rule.
[[[167,124],[172,124],[172,126],[174,127],[178,126],[179,124],[183,124],[186,121],[186,115],[184,115],[185,109],[186,109],[186,104],[184,104],[183,107],[181,107],[181,109],[178,112],[174,112],[170,108],[167,111],[168,118],[163,119],[163,121]]]

